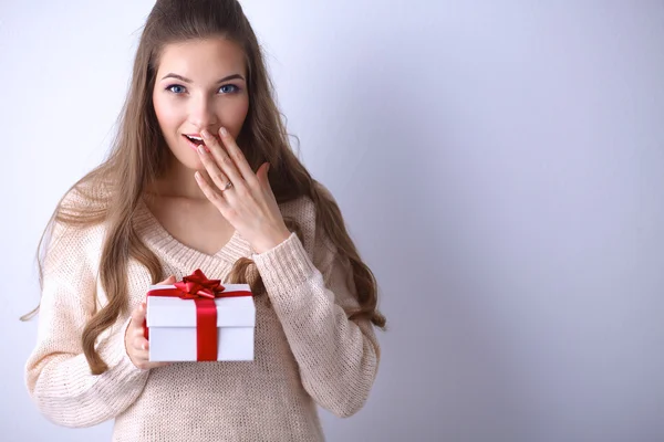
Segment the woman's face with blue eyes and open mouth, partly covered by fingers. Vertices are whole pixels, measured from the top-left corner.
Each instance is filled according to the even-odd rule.
[[[201,130],[219,138],[226,127],[237,138],[247,112],[245,54],[225,39],[190,40],[164,48],[153,104],[173,155],[187,168],[204,170],[196,152]]]

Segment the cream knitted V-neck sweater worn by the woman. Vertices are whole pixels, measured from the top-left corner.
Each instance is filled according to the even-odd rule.
[[[73,197],[72,197],[73,198]],[[315,231],[310,199],[281,206],[302,228],[256,254],[236,232],[215,255],[175,240],[142,202],[135,225],[178,280],[200,269],[225,280],[241,256],[255,260],[267,288],[256,298],[253,361],[176,362],[136,368],[124,347],[127,318],[97,340],[108,371],[93,376],[81,332],[106,303],[97,284],[103,225],[55,225],[44,264],[38,343],[27,362],[28,390],[41,412],[66,427],[115,419],[114,441],[321,441],[317,404],[349,417],[364,404],[378,365],[369,322],[347,319],[356,306],[350,266]],[[152,283],[137,262],[128,267],[129,307]],[[96,288],[96,299],[95,299]]]

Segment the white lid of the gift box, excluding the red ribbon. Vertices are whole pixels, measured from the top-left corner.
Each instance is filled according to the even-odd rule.
[[[174,285],[151,285],[149,290],[174,288]],[[248,284],[224,284],[225,292],[249,292]],[[215,298],[217,327],[253,327],[256,305],[253,296]],[[196,327],[196,302],[179,297],[148,296],[147,327]]]

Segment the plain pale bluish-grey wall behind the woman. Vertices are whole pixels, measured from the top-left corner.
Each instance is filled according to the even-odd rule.
[[[0,3],[3,441],[34,249],[106,151],[152,1]],[[331,441],[664,440],[664,3],[245,0],[391,330]]]

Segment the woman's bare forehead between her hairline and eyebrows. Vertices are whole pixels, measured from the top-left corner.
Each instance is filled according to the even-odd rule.
[[[222,38],[169,43],[159,54],[157,70],[157,75],[166,73],[195,82],[217,81],[219,75],[232,73],[246,75],[245,53],[237,43]]]

